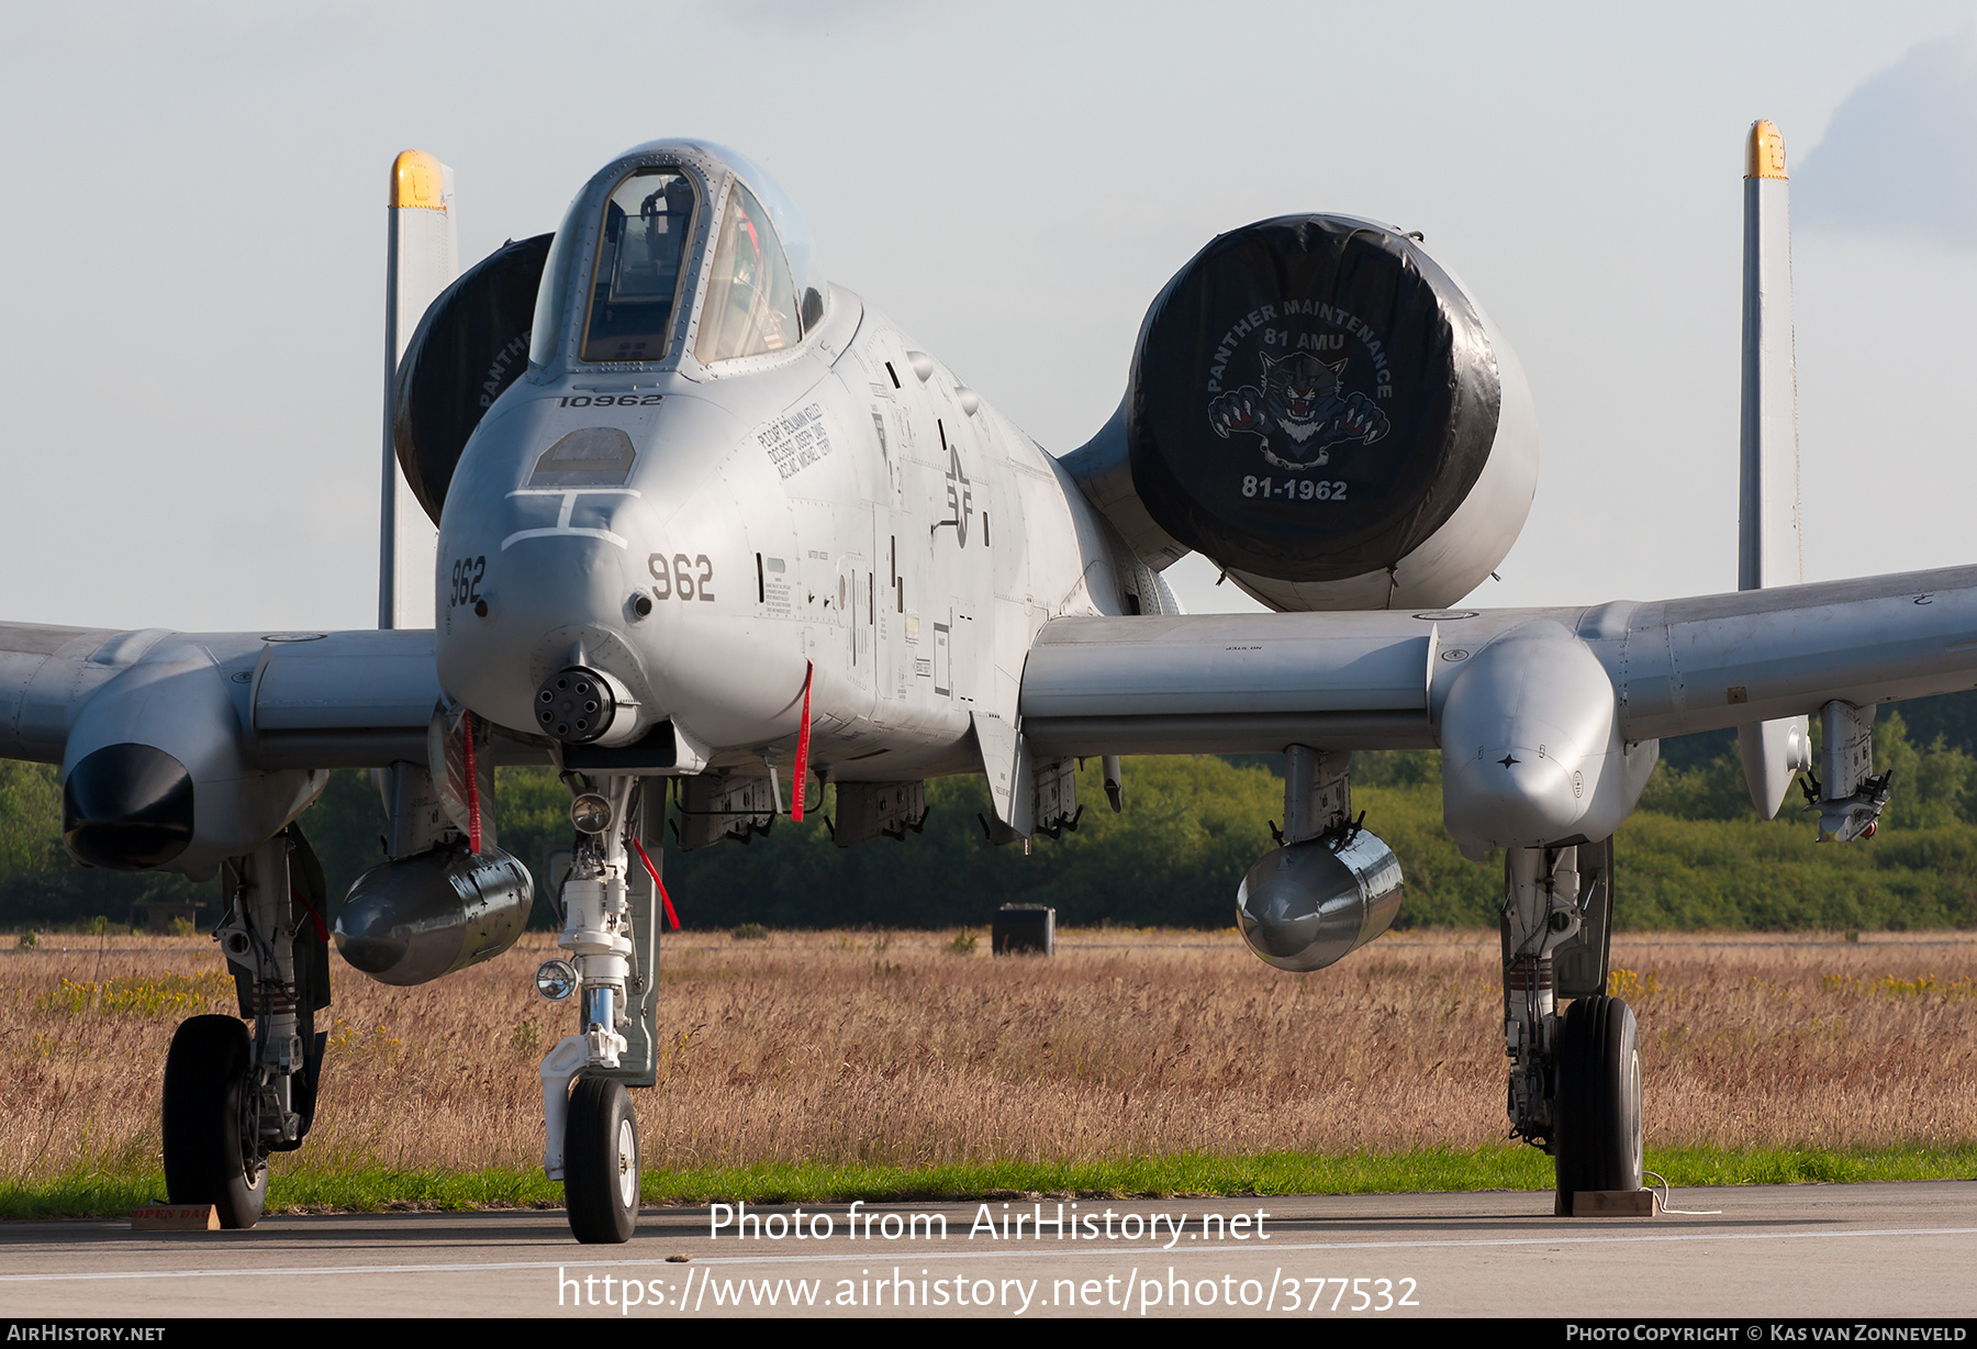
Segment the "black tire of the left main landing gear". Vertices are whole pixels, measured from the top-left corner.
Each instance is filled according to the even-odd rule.
[[[245,1228],[267,1207],[267,1157],[253,1122],[253,1038],[235,1017],[190,1017],[164,1058],[164,1193],[214,1205]]]

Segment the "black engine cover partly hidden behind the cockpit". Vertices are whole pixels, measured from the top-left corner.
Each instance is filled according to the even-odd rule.
[[[397,364],[391,443],[425,514],[439,524],[467,437],[528,370],[536,289],[550,239],[504,243],[439,293]]]

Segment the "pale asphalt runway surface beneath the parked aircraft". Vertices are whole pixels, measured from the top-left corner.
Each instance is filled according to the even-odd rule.
[[[1050,1222],[1060,1203],[1062,1238]],[[1722,1213],[1655,1218],[1554,1218],[1548,1193],[1072,1205],[852,1214],[832,1203],[801,1209],[801,1238],[791,1205],[749,1207],[761,1232],[747,1224],[745,1236],[733,1224],[710,1236],[706,1207],[646,1209],[627,1246],[577,1246],[561,1211],[279,1216],[251,1232],[172,1234],[6,1222],[0,1307],[117,1319],[1977,1311],[1973,1181],[1678,1189],[1671,1209]]]

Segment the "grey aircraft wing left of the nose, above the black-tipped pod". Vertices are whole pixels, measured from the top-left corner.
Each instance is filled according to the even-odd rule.
[[[79,722],[91,744],[75,750],[89,752],[144,716],[152,730],[176,722],[227,734],[257,769],[425,762],[439,696],[431,629],[119,633],[0,623],[0,758],[10,760],[61,764]]]

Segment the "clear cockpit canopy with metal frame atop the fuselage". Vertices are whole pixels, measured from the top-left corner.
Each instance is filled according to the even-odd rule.
[[[569,204],[530,368],[775,358],[822,320],[828,295],[811,231],[761,168],[704,140],[652,140]]]

